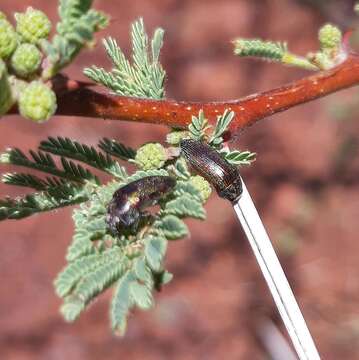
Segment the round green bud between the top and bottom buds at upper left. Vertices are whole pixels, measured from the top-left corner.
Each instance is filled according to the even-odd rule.
[[[35,45],[21,44],[11,57],[11,67],[16,75],[27,78],[39,69],[41,56]]]

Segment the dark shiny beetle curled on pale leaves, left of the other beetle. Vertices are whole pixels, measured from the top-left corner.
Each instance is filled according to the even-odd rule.
[[[135,180],[120,189],[107,207],[106,223],[113,234],[121,229],[136,226],[147,206],[173,190],[176,180],[169,176],[147,176]]]

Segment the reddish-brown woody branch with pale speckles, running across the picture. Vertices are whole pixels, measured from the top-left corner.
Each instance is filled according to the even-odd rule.
[[[111,120],[140,121],[185,127],[200,109],[213,122],[225,109],[236,115],[230,131],[252,125],[266,116],[359,84],[359,56],[350,55],[339,66],[263,93],[224,102],[184,102],[113,96],[87,86],[72,84],[71,91],[58,93],[58,115]],[[69,89],[70,90],[70,89]]]

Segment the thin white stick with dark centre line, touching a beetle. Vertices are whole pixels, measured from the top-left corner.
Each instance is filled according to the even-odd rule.
[[[243,179],[242,194],[233,207],[299,359],[319,360],[313,338]]]

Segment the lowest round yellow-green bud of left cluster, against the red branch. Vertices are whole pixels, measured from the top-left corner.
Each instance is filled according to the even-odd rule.
[[[41,81],[31,82],[20,94],[20,114],[35,122],[48,120],[56,111],[55,93]]]

